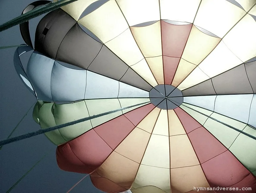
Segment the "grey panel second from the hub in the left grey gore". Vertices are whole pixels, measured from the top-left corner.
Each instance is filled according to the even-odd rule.
[[[88,70],[92,72],[99,73],[115,80],[120,80],[127,69],[128,66],[113,54],[113,52],[111,52],[105,45],[103,45],[99,54],[88,68]]]

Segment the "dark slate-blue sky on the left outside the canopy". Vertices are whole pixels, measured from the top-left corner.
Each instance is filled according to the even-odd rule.
[[[24,8],[34,1],[1,0],[0,24],[19,16]],[[36,26],[42,17],[39,16],[29,22],[33,45]],[[0,47],[24,43],[18,25],[0,32]],[[16,48],[0,50],[0,140],[7,138],[36,102],[36,98],[23,85],[15,71],[13,65],[15,50]],[[25,66],[30,53],[23,54],[21,57]],[[33,107],[19,124],[12,137],[40,129],[40,126],[32,118]],[[45,135],[4,145],[0,150],[0,192],[6,192],[11,188],[45,154],[47,156],[11,192],[67,192],[85,174],[60,170],[56,162],[55,151],[56,145],[52,144]],[[102,191],[96,189],[91,183],[90,177],[87,176],[72,192],[98,193]]]

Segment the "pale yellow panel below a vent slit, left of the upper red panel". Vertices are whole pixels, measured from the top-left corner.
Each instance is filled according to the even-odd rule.
[[[130,28],[144,57],[154,57],[162,55],[160,21],[153,23],[149,26]]]

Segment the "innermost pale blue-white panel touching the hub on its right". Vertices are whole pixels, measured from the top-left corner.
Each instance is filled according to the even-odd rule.
[[[196,96],[196,97],[184,97],[183,102],[206,108],[208,110],[214,110],[214,101],[216,96]]]

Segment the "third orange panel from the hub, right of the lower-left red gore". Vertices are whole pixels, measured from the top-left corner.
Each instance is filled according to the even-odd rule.
[[[121,187],[129,189],[137,174],[139,164],[116,153],[115,151],[95,170]]]

